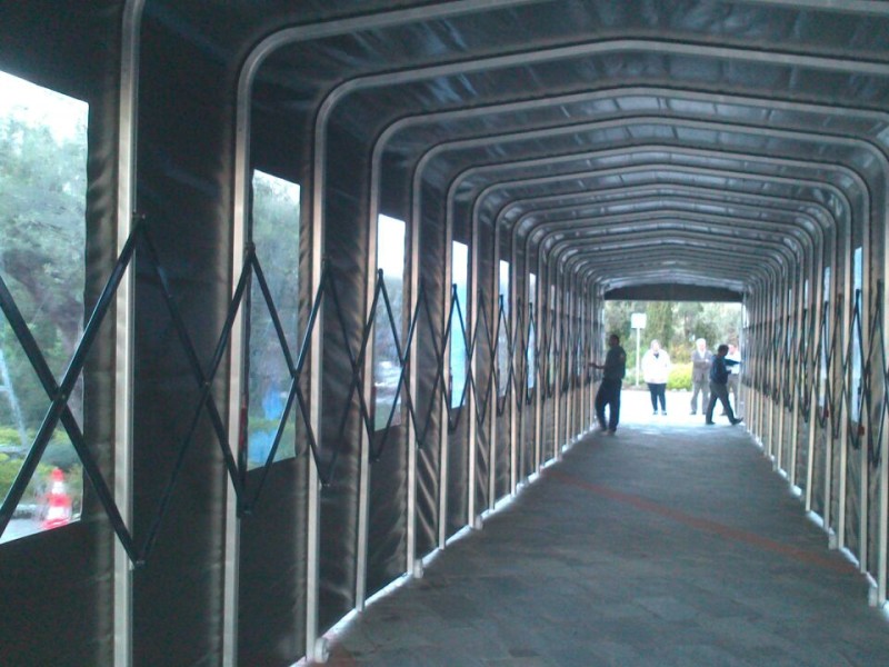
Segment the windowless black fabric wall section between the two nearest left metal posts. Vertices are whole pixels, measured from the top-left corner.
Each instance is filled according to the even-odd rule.
[[[142,26],[136,206],[146,216],[194,355],[210,377],[230,292],[231,74],[223,62],[176,39],[151,8]],[[173,478],[174,486],[154,550],[133,575],[133,658],[137,665],[160,665],[176,647],[183,664],[212,664],[222,650],[222,454],[207,411],[200,410],[201,385],[156,275],[142,257],[137,269],[137,540],[147,534]],[[224,415],[224,368],[212,387]],[[196,437],[186,448],[199,410]]]

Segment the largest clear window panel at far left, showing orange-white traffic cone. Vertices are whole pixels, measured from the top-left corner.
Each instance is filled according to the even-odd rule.
[[[88,118],[86,102],[0,72],[0,277],[57,382],[83,334]],[[0,315],[0,498],[49,405]],[[81,381],[68,406],[81,422]],[[80,460],[59,427],[0,541],[78,519],[82,497]]]

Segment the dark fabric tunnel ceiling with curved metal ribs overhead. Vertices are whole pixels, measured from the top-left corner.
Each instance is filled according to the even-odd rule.
[[[383,209],[419,178],[606,292],[731,298],[886,208],[886,3],[297,4],[149,16],[273,42],[254,119],[376,151]]]

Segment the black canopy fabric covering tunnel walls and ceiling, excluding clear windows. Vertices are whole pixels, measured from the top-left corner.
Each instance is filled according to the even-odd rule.
[[[133,206],[161,271],[137,251],[128,528],[137,544],[157,521],[160,529],[150,558],[132,575],[136,664],[217,664],[237,650],[239,664],[286,665],[307,643],[312,650],[313,631],[471,524],[515,479],[586,428],[591,385],[586,374],[568,371],[569,359],[600,349],[605,298],[742,300],[752,389],[786,402],[793,386],[785,369],[792,364],[793,377],[808,382],[802,394],[815,382],[807,365],[815,345],[825,345],[819,315],[839,306],[836,323],[847,330],[855,319],[849,276],[857,247],[866,267],[861,316],[876,317],[869,309],[886,278],[889,139],[889,8],[882,3],[8,4],[0,10],[0,69],[90,103],[93,300],[121,242],[119,152],[127,128],[119,119],[127,109],[120,90],[127,74],[137,77]],[[121,74],[129,39],[138,44],[138,70]],[[318,323],[323,351],[308,355],[320,358],[312,367],[320,376],[307,371],[299,379],[307,405],[316,401],[324,415],[317,456],[308,429],[298,429],[301,456],[263,478],[261,499],[239,515],[232,555],[226,450],[208,411],[198,410],[191,435],[189,425],[208,392],[213,405],[231,405],[228,367],[219,366],[204,386],[196,381],[193,359],[211,368],[226,331],[233,267],[243,251],[238,183],[251,168],[301,186],[300,335],[323,276],[337,303],[326,296]],[[417,252],[408,259],[416,279],[407,281],[406,300],[429,316],[418,317],[416,329],[410,402],[417,415],[406,406],[390,434],[368,438],[353,390],[373,289],[369,220],[380,212],[407,221],[408,246]],[[448,366],[451,240],[472,248],[476,308],[466,326],[482,334],[473,396],[449,415],[439,405],[447,384],[439,374]],[[483,327],[493,329],[498,319],[498,259],[512,270],[511,330],[527,345],[531,327],[537,344],[552,346],[563,361],[560,375],[540,375],[533,390],[519,378],[506,400],[486,404],[493,372]],[[821,293],[828,267],[831,293]],[[535,310],[528,308],[530,273],[540,295]],[[796,290],[796,302],[788,302],[788,290]],[[177,338],[170,303],[181,312],[191,350]],[[807,340],[810,352],[791,364],[793,345],[776,341],[793,322],[792,344]],[[84,376],[83,430],[109,480],[120,454],[114,340],[108,325]],[[223,346],[222,356],[228,351]],[[520,346],[517,376],[526,358]],[[840,366],[831,372],[839,384],[847,375]],[[875,388],[881,382],[873,377]],[[872,414],[882,419],[879,409]],[[411,419],[427,426],[416,429],[422,439]],[[826,432],[821,427],[818,437]],[[781,437],[791,435],[806,437],[789,427]],[[379,447],[380,456],[364,477],[367,446]],[[779,450],[779,465],[809,465],[790,459],[790,451]],[[332,474],[322,480],[316,517],[310,470],[328,465]],[[819,458],[810,488],[833,466],[827,455]],[[848,511],[860,502],[876,507],[877,476],[858,457],[848,466]],[[244,474],[248,488],[259,475]],[[821,489],[812,502],[822,514],[836,511],[837,498]],[[876,515],[861,535],[867,521],[851,520],[852,514],[843,538],[875,577],[885,577],[873,569],[885,548]],[[317,584],[307,538],[313,521],[320,527]],[[106,508],[93,499],[79,525],[0,546],[0,578],[10,583],[0,613],[3,661],[112,661],[114,624],[128,616],[116,607],[111,584],[116,539]],[[37,569],[37,555],[48,552],[58,554],[56,565]],[[232,558],[233,581],[224,574]],[[50,581],[63,581],[57,590],[64,593],[42,595]],[[226,591],[233,588],[231,598]],[[236,611],[227,608],[231,599]],[[307,608],[317,609],[317,624],[309,618],[307,625]],[[222,620],[232,614],[236,638],[227,637]],[[59,627],[69,628],[64,643]]]

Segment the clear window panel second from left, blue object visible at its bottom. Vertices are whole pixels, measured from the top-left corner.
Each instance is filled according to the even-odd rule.
[[[259,280],[250,286],[248,467],[264,465],[274,444],[290,392],[290,372],[284,349],[297,362],[299,308],[300,188],[297,183],[253,172],[251,235],[257,259],[269,286],[267,302]],[[283,329],[282,341],[272,319],[272,308]],[[273,460],[294,456],[297,407],[293,405]]]

